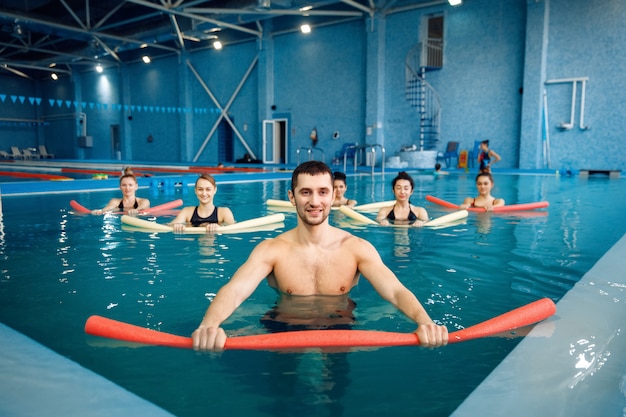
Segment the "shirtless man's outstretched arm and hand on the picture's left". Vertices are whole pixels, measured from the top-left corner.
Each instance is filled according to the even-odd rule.
[[[221,351],[226,333],[220,326],[243,303],[273,269],[272,241],[263,241],[252,251],[209,305],[202,322],[192,333],[196,350]]]

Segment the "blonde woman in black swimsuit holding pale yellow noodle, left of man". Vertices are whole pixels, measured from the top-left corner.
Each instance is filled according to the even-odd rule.
[[[206,227],[208,232],[214,232],[220,225],[235,223],[233,212],[228,207],[216,207],[213,198],[217,193],[215,178],[209,174],[202,174],[196,180],[196,197],[199,205],[183,208],[178,216],[170,223],[175,232],[182,232],[185,226]]]

